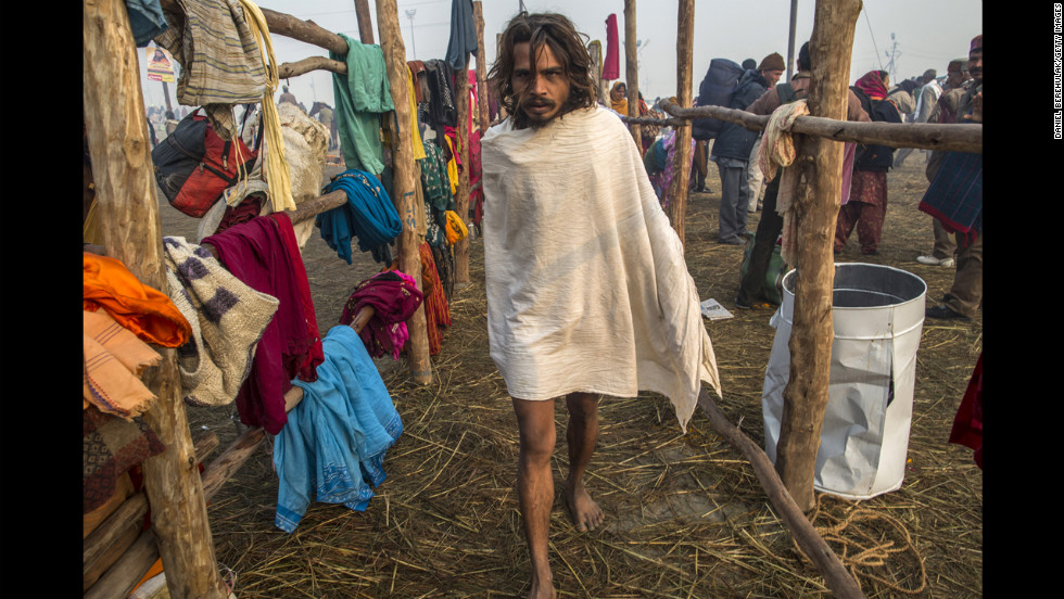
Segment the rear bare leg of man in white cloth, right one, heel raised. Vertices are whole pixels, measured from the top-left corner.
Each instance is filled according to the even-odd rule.
[[[569,426],[566,441],[569,445],[569,476],[566,479],[566,505],[577,530],[594,531],[606,514],[584,488],[584,471],[598,443],[598,395],[570,393],[566,397],[569,408]]]

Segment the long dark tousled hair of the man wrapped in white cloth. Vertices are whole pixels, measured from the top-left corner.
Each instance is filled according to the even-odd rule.
[[[524,113],[519,110],[519,93],[512,86],[514,47],[525,41],[531,44],[532,51],[530,85],[536,76],[535,58],[544,44],[550,47],[550,51],[566,69],[566,76],[569,78],[569,99],[562,104],[559,116],[577,109],[595,105],[598,92],[591,77],[591,54],[572,22],[557,13],[521,12],[506,25],[506,30],[499,40],[495,64],[487,74],[489,87],[499,99],[506,112],[514,115],[517,128],[521,129],[530,124]]]

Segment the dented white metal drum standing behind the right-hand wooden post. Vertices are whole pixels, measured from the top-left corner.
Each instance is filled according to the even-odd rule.
[[[775,463],[783,390],[790,377],[795,279],[783,279],[783,303],[764,373],[764,451]],[[897,490],[905,475],[916,381],[916,348],[927,284],[875,264],[836,264],[832,300],[832,370],[813,488],[847,499]]]

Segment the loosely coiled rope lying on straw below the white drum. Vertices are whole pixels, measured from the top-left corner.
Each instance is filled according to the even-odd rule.
[[[813,524],[816,532],[824,538],[828,544],[841,545],[843,550],[838,553],[839,560],[847,566],[853,579],[861,584],[862,576],[864,578],[870,578],[876,581],[891,590],[901,592],[904,595],[919,595],[924,591],[927,587],[927,569],[924,565],[924,559],[921,557],[920,551],[916,550],[916,546],[912,541],[912,537],[909,535],[909,531],[905,530],[904,524],[894,517],[887,515],[885,513],[879,513],[870,509],[858,508],[856,504],[849,504],[845,499],[840,499],[844,504],[849,504],[849,507],[844,509],[844,514],[841,518],[835,517],[821,510],[821,501],[826,494],[819,494],[816,496],[816,506],[813,511],[809,514],[809,522]],[[836,498],[838,499],[838,498]],[[833,521],[833,523],[825,524],[823,526],[816,525],[818,515],[823,515],[825,520]],[[888,540],[886,538],[887,533],[879,535],[879,538],[874,538],[871,534],[865,531],[860,530],[858,526],[850,526],[857,522],[862,521],[884,521],[889,527],[898,532],[898,534],[903,539],[902,547],[896,546],[894,540]],[[852,538],[847,538],[843,536],[843,532],[849,528],[850,536],[862,537],[861,540],[853,540]],[[799,553],[805,556],[801,548],[798,547],[796,540],[791,540],[795,544],[795,548],[799,550]],[[851,551],[853,551],[851,553]],[[914,589],[902,588],[896,582],[889,581],[883,576],[873,574],[870,569],[884,566],[887,564],[887,560],[894,553],[901,553],[908,551],[915,559],[916,563],[920,564],[920,587]],[[808,558],[807,558],[808,559]],[[862,571],[859,574],[859,570]]]

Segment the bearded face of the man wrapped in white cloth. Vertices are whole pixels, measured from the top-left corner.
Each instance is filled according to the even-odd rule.
[[[532,44],[527,41],[514,44],[510,84],[517,95],[518,110],[524,113],[533,127],[542,127],[558,116],[569,100],[569,76],[546,43],[535,58],[535,69],[532,73]]]

